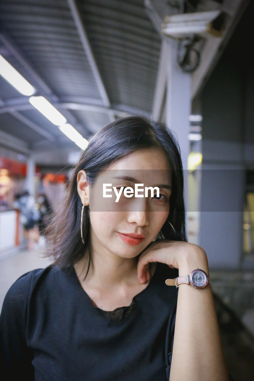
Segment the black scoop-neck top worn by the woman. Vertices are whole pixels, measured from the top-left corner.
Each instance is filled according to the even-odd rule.
[[[177,276],[157,263],[130,306],[103,311],[74,267],[22,275],[0,315],[1,374],[26,381],[167,381],[178,289],[165,280]]]

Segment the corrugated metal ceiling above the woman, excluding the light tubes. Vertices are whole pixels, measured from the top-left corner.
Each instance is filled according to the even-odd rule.
[[[144,0],[0,0],[0,25],[0,54],[84,138],[122,113],[151,116],[161,37]],[[0,146],[47,164],[46,151],[80,151],[28,98],[0,76]]]

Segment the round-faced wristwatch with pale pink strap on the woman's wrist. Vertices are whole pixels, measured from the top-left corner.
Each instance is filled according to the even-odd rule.
[[[206,274],[204,270],[201,270],[198,267],[195,270],[191,271],[190,275],[185,275],[185,277],[177,277],[175,279],[165,280],[167,286],[175,286],[176,288],[183,283],[190,283],[195,288],[204,288],[206,287],[207,283],[211,282],[211,275]]]

